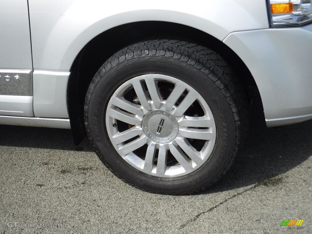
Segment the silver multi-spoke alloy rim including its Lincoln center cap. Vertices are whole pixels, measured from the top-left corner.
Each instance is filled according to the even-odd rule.
[[[134,77],[109,100],[106,127],[124,160],[156,177],[192,173],[209,158],[216,124],[207,102],[181,80],[160,74]]]

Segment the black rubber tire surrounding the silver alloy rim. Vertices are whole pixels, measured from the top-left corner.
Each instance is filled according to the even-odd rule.
[[[109,109],[111,106],[111,104],[109,104],[111,103],[110,100],[114,100],[113,98],[115,97],[112,97],[112,95],[118,91],[121,85],[128,84],[131,79],[146,74],[160,74],[173,77],[180,80],[181,84],[185,84],[186,87],[192,87],[202,98],[201,102],[200,100],[198,101],[200,107],[194,107],[197,105],[196,103],[192,104],[192,111],[196,110],[194,116],[199,116],[197,112],[204,110],[200,110],[200,108],[204,108],[202,106],[206,104],[212,112],[215,123],[215,144],[213,144],[211,148],[211,154],[205,159],[206,161],[204,161],[199,168],[194,169],[194,171],[190,169],[189,173],[182,173],[181,176],[177,173],[177,176],[171,177],[170,175],[167,177],[159,177],[154,176],[153,173],[144,173],[142,170],[135,168],[133,163],[131,164],[129,161],[126,161],[126,159],[124,159],[126,156],[121,156],[121,151],[118,151],[120,154],[117,152],[117,148],[120,145],[115,144],[116,142],[113,145],[110,140],[112,130],[110,129],[110,125],[107,125],[106,122],[110,119],[107,114],[111,111],[111,109]],[[164,82],[165,81],[167,81],[166,78]],[[159,90],[168,90],[167,86],[170,86],[169,83],[164,83],[165,85],[163,87],[160,83],[159,81],[157,83]],[[144,84],[142,87],[144,87]],[[171,91],[172,89],[168,92]],[[184,100],[186,99],[186,95],[187,94],[184,94],[184,96],[181,95],[180,98]],[[165,95],[161,94],[160,99],[167,101],[168,95],[167,99],[163,98],[163,96]],[[150,99],[153,98],[150,97]],[[131,100],[132,99],[130,99],[130,101]],[[134,100],[133,102],[143,106],[140,100]],[[177,101],[173,109],[177,108],[179,103],[182,103],[182,101]],[[149,105],[153,106],[154,104],[149,103]],[[95,146],[96,154],[100,160],[111,172],[124,182],[152,193],[190,194],[202,191],[211,184],[216,183],[231,168],[246,134],[247,114],[245,105],[246,97],[240,83],[236,81],[236,77],[232,74],[227,63],[216,52],[204,46],[185,41],[151,40],[124,48],[100,67],[90,83],[86,95],[85,126],[88,138]],[[155,109],[157,108],[155,107]],[[120,109],[120,111],[122,112],[124,110]],[[187,111],[185,111],[184,114],[185,113],[187,113]],[[145,116],[144,118],[147,118]],[[127,128],[125,124],[120,123],[117,119],[113,118],[111,121],[113,121],[111,123],[114,123],[114,126],[118,128],[118,132],[122,126],[123,128]],[[109,129],[107,129],[107,126],[109,126]],[[130,129],[131,127],[132,125],[130,126],[128,123],[128,128]],[[194,129],[196,129],[195,132],[199,132],[198,129],[201,128],[195,127]],[[179,133],[181,131],[182,130],[179,129]],[[158,140],[156,138],[151,139],[152,141]],[[148,141],[150,142],[151,140],[148,139]],[[196,144],[205,144],[206,146],[209,144],[210,140],[205,140],[205,143],[202,142],[202,140],[196,139],[194,141],[188,139],[188,141],[196,148]],[[126,143],[122,144],[126,145]],[[155,143],[155,145],[157,145],[157,143]],[[146,145],[144,145],[144,147],[145,146]],[[158,146],[158,152],[160,149],[164,149],[161,148],[162,146],[160,146],[160,144]],[[154,147],[155,149],[157,148],[157,146]],[[200,150],[200,147],[198,149]],[[142,152],[145,151],[142,150]],[[179,152],[179,154],[181,154],[181,152],[184,153],[186,157],[183,157],[192,164],[193,159],[189,158],[183,150]],[[139,155],[139,153],[135,153],[135,155]],[[145,160],[146,158],[144,159],[143,153],[142,155],[142,160]],[[166,155],[167,161],[165,161],[164,167],[168,169],[168,165],[171,164],[168,163],[169,153]],[[139,155],[139,157],[141,156]],[[175,160],[174,157],[173,161]],[[157,167],[157,163],[159,162],[156,156],[154,156],[153,162],[154,165],[152,165],[152,168]],[[174,163],[176,163],[176,161],[172,163],[172,165],[174,165],[172,168],[178,168],[179,163]],[[159,165],[161,165],[161,163],[159,163]],[[161,166],[159,166],[159,168],[161,168]],[[183,170],[181,169],[180,171]],[[161,175],[161,173],[159,173],[159,175]]]

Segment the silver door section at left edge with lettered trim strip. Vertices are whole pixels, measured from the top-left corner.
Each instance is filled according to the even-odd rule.
[[[34,116],[27,1],[1,1],[0,15],[0,115]]]

